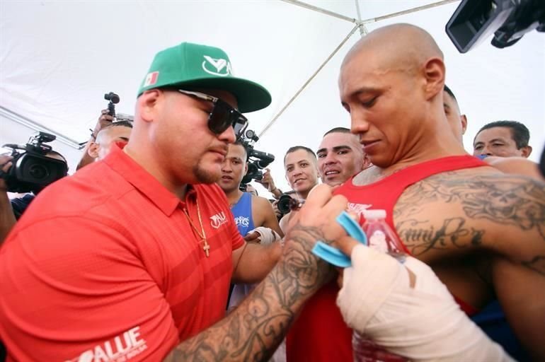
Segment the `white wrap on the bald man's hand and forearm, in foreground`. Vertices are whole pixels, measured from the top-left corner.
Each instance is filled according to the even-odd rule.
[[[352,251],[337,304],[350,327],[413,361],[513,361],[462,312],[428,265],[364,245]],[[411,288],[408,271],[416,276]]]

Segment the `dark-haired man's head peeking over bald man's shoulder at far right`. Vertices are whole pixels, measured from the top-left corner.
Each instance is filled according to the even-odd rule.
[[[524,157],[532,153],[530,132],[517,121],[496,121],[478,130],[473,141],[474,156]]]

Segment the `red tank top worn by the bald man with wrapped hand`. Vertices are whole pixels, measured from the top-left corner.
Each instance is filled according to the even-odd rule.
[[[386,223],[396,232],[392,216],[394,206],[408,186],[437,173],[486,165],[473,156],[437,158],[399,170],[370,185],[355,186],[350,179],[336,189],[335,194],[343,194],[347,197],[348,206],[354,211],[386,210]],[[360,223],[362,222],[363,220],[360,220]],[[406,248],[405,251],[410,254]],[[332,281],[306,303],[287,335],[287,362],[352,361],[352,329],[345,325],[343,316],[335,303],[337,293],[338,286],[335,281]],[[458,298],[456,300],[467,314],[476,312],[471,305]],[[385,351],[377,351],[375,356],[377,358],[371,358],[369,361],[405,360]]]

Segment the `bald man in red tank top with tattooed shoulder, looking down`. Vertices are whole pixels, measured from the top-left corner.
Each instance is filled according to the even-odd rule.
[[[445,127],[442,59],[432,37],[408,24],[374,30],[352,47],[340,98],[373,166],[336,192],[386,210],[405,252],[429,264],[467,314],[497,297],[532,358],[542,360],[545,185],[466,154]],[[352,361],[350,330],[334,313],[335,297],[322,289],[294,325],[304,332],[288,338],[288,358]],[[377,347],[366,356],[396,358],[385,354]]]

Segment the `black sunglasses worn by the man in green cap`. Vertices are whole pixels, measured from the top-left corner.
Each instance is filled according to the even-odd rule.
[[[240,139],[248,127],[248,119],[224,100],[205,93],[182,91],[181,89],[178,89],[178,92],[212,102],[214,107],[208,116],[208,128],[214,134],[222,134],[229,127],[233,127],[236,139]]]

